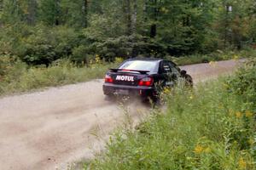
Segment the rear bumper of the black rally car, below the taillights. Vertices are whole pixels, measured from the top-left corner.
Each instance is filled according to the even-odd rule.
[[[129,96],[140,97],[142,99],[155,98],[157,96],[156,91],[153,87],[145,86],[125,86],[119,84],[104,83],[103,84],[103,93],[105,95],[118,95],[119,90],[125,90],[128,92]],[[124,94],[121,94],[124,95]]]

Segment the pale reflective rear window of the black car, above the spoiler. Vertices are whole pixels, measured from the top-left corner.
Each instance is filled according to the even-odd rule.
[[[158,62],[147,60],[131,60],[126,61],[120,65],[119,69],[156,72],[158,69]]]

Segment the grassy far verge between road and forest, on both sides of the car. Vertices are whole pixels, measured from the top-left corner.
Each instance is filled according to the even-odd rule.
[[[239,52],[218,50],[209,55],[194,54],[168,59],[172,59],[178,65],[190,65],[212,60],[238,59],[239,56],[256,57],[256,50],[247,49]],[[115,67],[121,61],[122,59],[117,58],[115,63],[105,63],[96,58],[89,66],[77,66],[67,59],[60,59],[49,67],[28,66],[8,54],[3,54],[0,55],[0,96],[103,78],[108,68]]]

